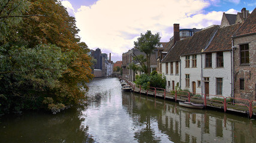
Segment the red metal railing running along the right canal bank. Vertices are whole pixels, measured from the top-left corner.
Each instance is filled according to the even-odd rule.
[[[131,85],[135,91],[135,83],[129,82],[127,79],[125,79],[129,85]],[[140,88],[140,93],[141,93],[141,86],[138,86]],[[177,97],[179,96],[180,98],[187,98],[188,102],[191,102],[191,100],[195,102],[200,102],[200,100],[203,100],[204,105],[206,106],[207,104],[215,104],[219,106],[223,106],[224,112],[227,111],[227,108],[234,108],[238,109],[238,107],[246,107],[248,109],[249,117],[252,117],[253,110],[256,108],[256,100],[247,100],[243,98],[233,98],[233,97],[224,97],[221,95],[204,95],[204,94],[199,94],[199,93],[193,93],[193,92],[186,92],[186,91],[170,91],[166,92],[164,88],[155,88],[155,87],[149,87],[149,89],[146,90],[146,94],[148,95],[148,91],[152,91],[153,95],[156,97],[156,93],[159,94],[164,94],[164,99],[166,94],[171,94],[173,95],[173,92],[175,92],[174,97],[175,97],[175,102],[177,102]],[[201,95],[201,97],[195,96],[195,95]],[[216,100],[216,98],[220,98],[221,100]],[[183,99],[184,100],[184,99]],[[231,101],[230,101],[231,100]],[[234,106],[231,106],[234,105]],[[237,107],[235,105],[238,105]],[[245,111],[245,110],[243,110]]]

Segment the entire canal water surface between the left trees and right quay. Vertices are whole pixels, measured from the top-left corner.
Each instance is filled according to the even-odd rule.
[[[122,92],[116,78],[88,84],[88,105],[58,114],[0,117],[0,142],[255,142],[256,121]]]

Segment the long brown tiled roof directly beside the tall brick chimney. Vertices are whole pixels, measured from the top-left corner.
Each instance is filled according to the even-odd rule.
[[[205,49],[209,45],[218,28],[219,26],[212,26],[196,32],[192,37],[177,41],[162,62],[179,61],[180,55],[200,53],[201,49]]]

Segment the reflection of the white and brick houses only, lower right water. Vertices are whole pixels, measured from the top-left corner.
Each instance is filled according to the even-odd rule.
[[[227,119],[204,110],[194,110],[165,105],[158,124],[162,132],[170,135],[173,142],[254,142],[255,125]],[[252,137],[253,136],[253,137]]]

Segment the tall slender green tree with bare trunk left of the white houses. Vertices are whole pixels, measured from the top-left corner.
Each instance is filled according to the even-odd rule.
[[[159,33],[152,35],[151,31],[147,30],[145,35],[141,33],[138,41],[134,42],[135,48],[146,54],[147,71],[145,73],[147,74],[150,74],[150,55],[153,53],[153,49],[160,45],[160,39]]]

